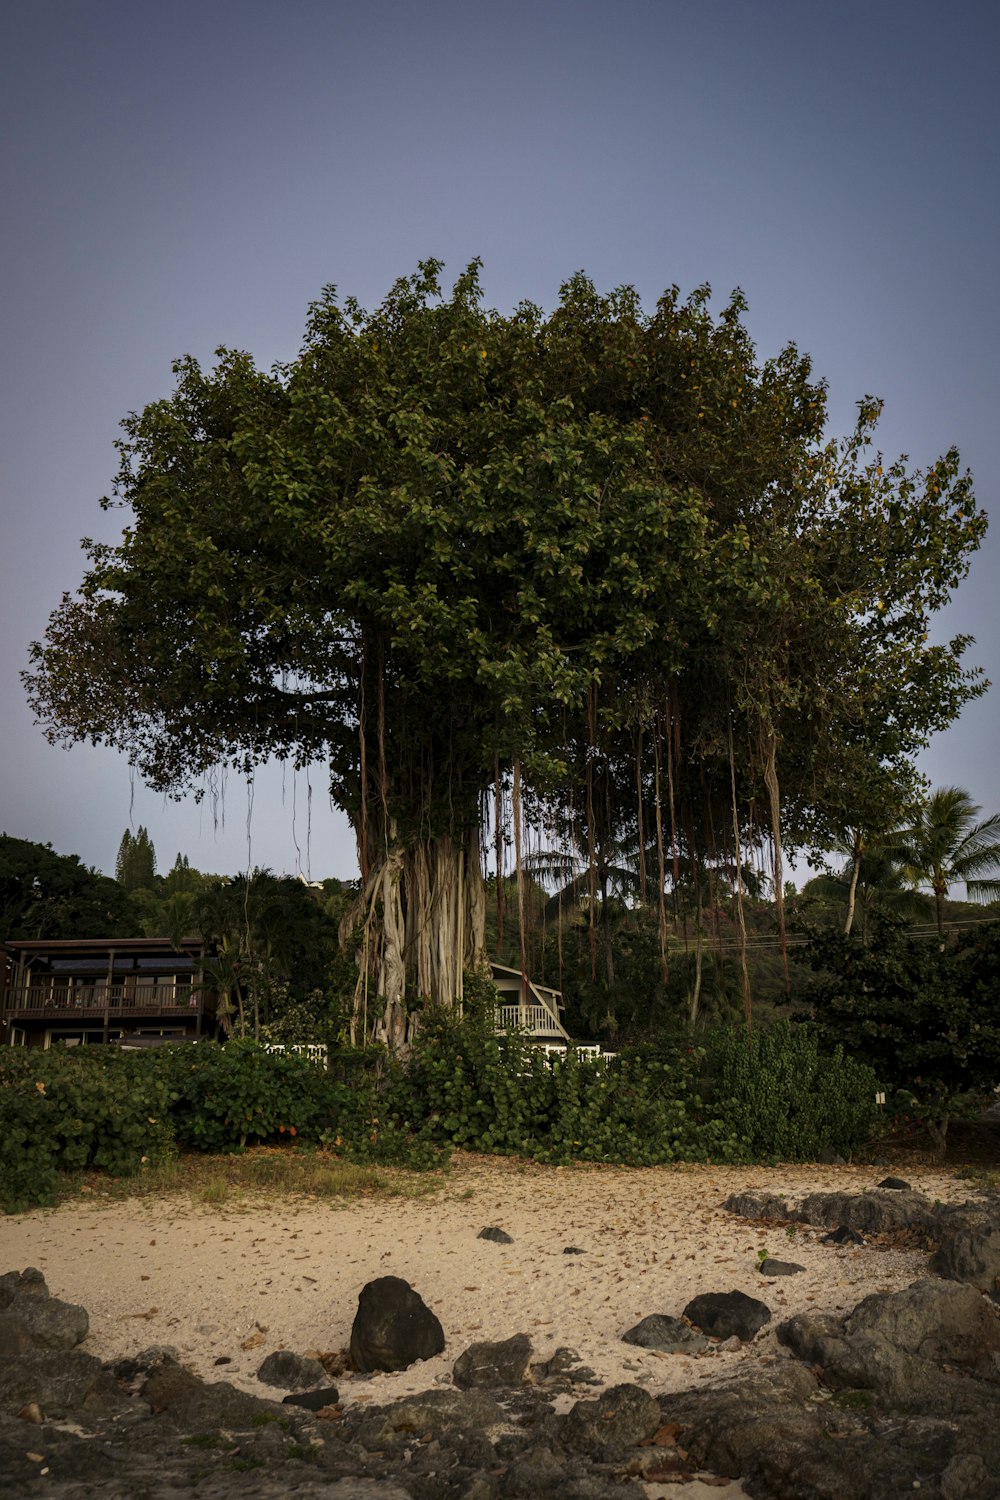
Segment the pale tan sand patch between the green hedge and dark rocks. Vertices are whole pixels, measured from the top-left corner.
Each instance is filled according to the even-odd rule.
[[[447,1383],[469,1344],[522,1332],[535,1359],[570,1346],[606,1384],[636,1382],[660,1394],[774,1354],[774,1324],[783,1317],[847,1310],[870,1292],[925,1275],[922,1251],[841,1250],[819,1244],[823,1230],[787,1234],[721,1212],[736,1191],[796,1203],[807,1192],[871,1188],[883,1174],[873,1167],[561,1168],[457,1156],[442,1191],[424,1198],[222,1209],[186,1198],[91,1198],[13,1215],[0,1220],[0,1272],[37,1266],[54,1296],[82,1304],[85,1348],[102,1359],[172,1344],[198,1374],[279,1400],[256,1380],[264,1356],[345,1348],[361,1287],[384,1275],[420,1292],[441,1318],[447,1347],[397,1374],[336,1377],[345,1404]],[[970,1196],[945,1172],[907,1172],[907,1179],[930,1198]],[[513,1244],[478,1239],[484,1226],[507,1230]],[[568,1245],[585,1254],[565,1256]],[[756,1269],[762,1248],[804,1264],[805,1274],[765,1280]],[[700,1292],[735,1288],[774,1314],[751,1346],[682,1356],[621,1341],[651,1312],[679,1316]],[[219,1356],[231,1364],[216,1366]]]

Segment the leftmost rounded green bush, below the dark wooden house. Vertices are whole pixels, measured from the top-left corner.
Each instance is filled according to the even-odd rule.
[[[130,1176],[174,1149],[166,1080],[111,1047],[0,1050],[0,1202],[51,1203],[60,1172]]]

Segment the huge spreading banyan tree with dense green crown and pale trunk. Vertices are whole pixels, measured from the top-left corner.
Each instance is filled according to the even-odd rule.
[[[225,762],[328,765],[361,866],[358,994],[391,1041],[483,951],[484,831],[631,832],[661,903],[687,858],[889,824],[912,756],[984,682],[928,640],[985,516],[951,450],[826,436],[739,292],[645,312],[583,276],[555,312],[328,288],[294,362],[220,350],[124,422],[118,544],[33,646],[49,738],[198,790]],[[501,872],[502,873],[502,872]],[[739,872],[738,872],[739,885]],[[502,880],[498,882],[498,890]]]

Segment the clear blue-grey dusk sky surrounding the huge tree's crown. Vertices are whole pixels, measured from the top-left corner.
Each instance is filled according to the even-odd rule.
[[[106,750],[49,748],[18,672],[99,510],[120,418],[169,363],[295,356],[333,282],[381,302],[417,261],[484,261],[487,302],[550,308],[583,268],[652,304],[750,298],[865,393],[882,447],[1000,477],[1000,8],[907,0],[33,0],[0,46],[0,831],[111,872],[355,873],[322,768],[231,777],[216,810]],[[939,633],[1000,678],[1000,524]],[[997,693],[922,765],[1000,810]],[[247,832],[249,831],[249,832]]]

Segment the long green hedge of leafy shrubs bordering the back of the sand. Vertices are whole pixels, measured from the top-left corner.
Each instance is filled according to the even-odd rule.
[[[4,1208],[52,1202],[60,1172],[118,1176],[174,1144],[208,1152],[297,1140],[372,1164],[438,1166],[453,1146],[546,1162],[849,1155],[876,1125],[876,1077],[811,1026],[685,1035],[613,1059],[547,1059],[493,1032],[489,998],[424,1016],[405,1066],[340,1048],[321,1068],[252,1041],[123,1053],[0,1052]]]

